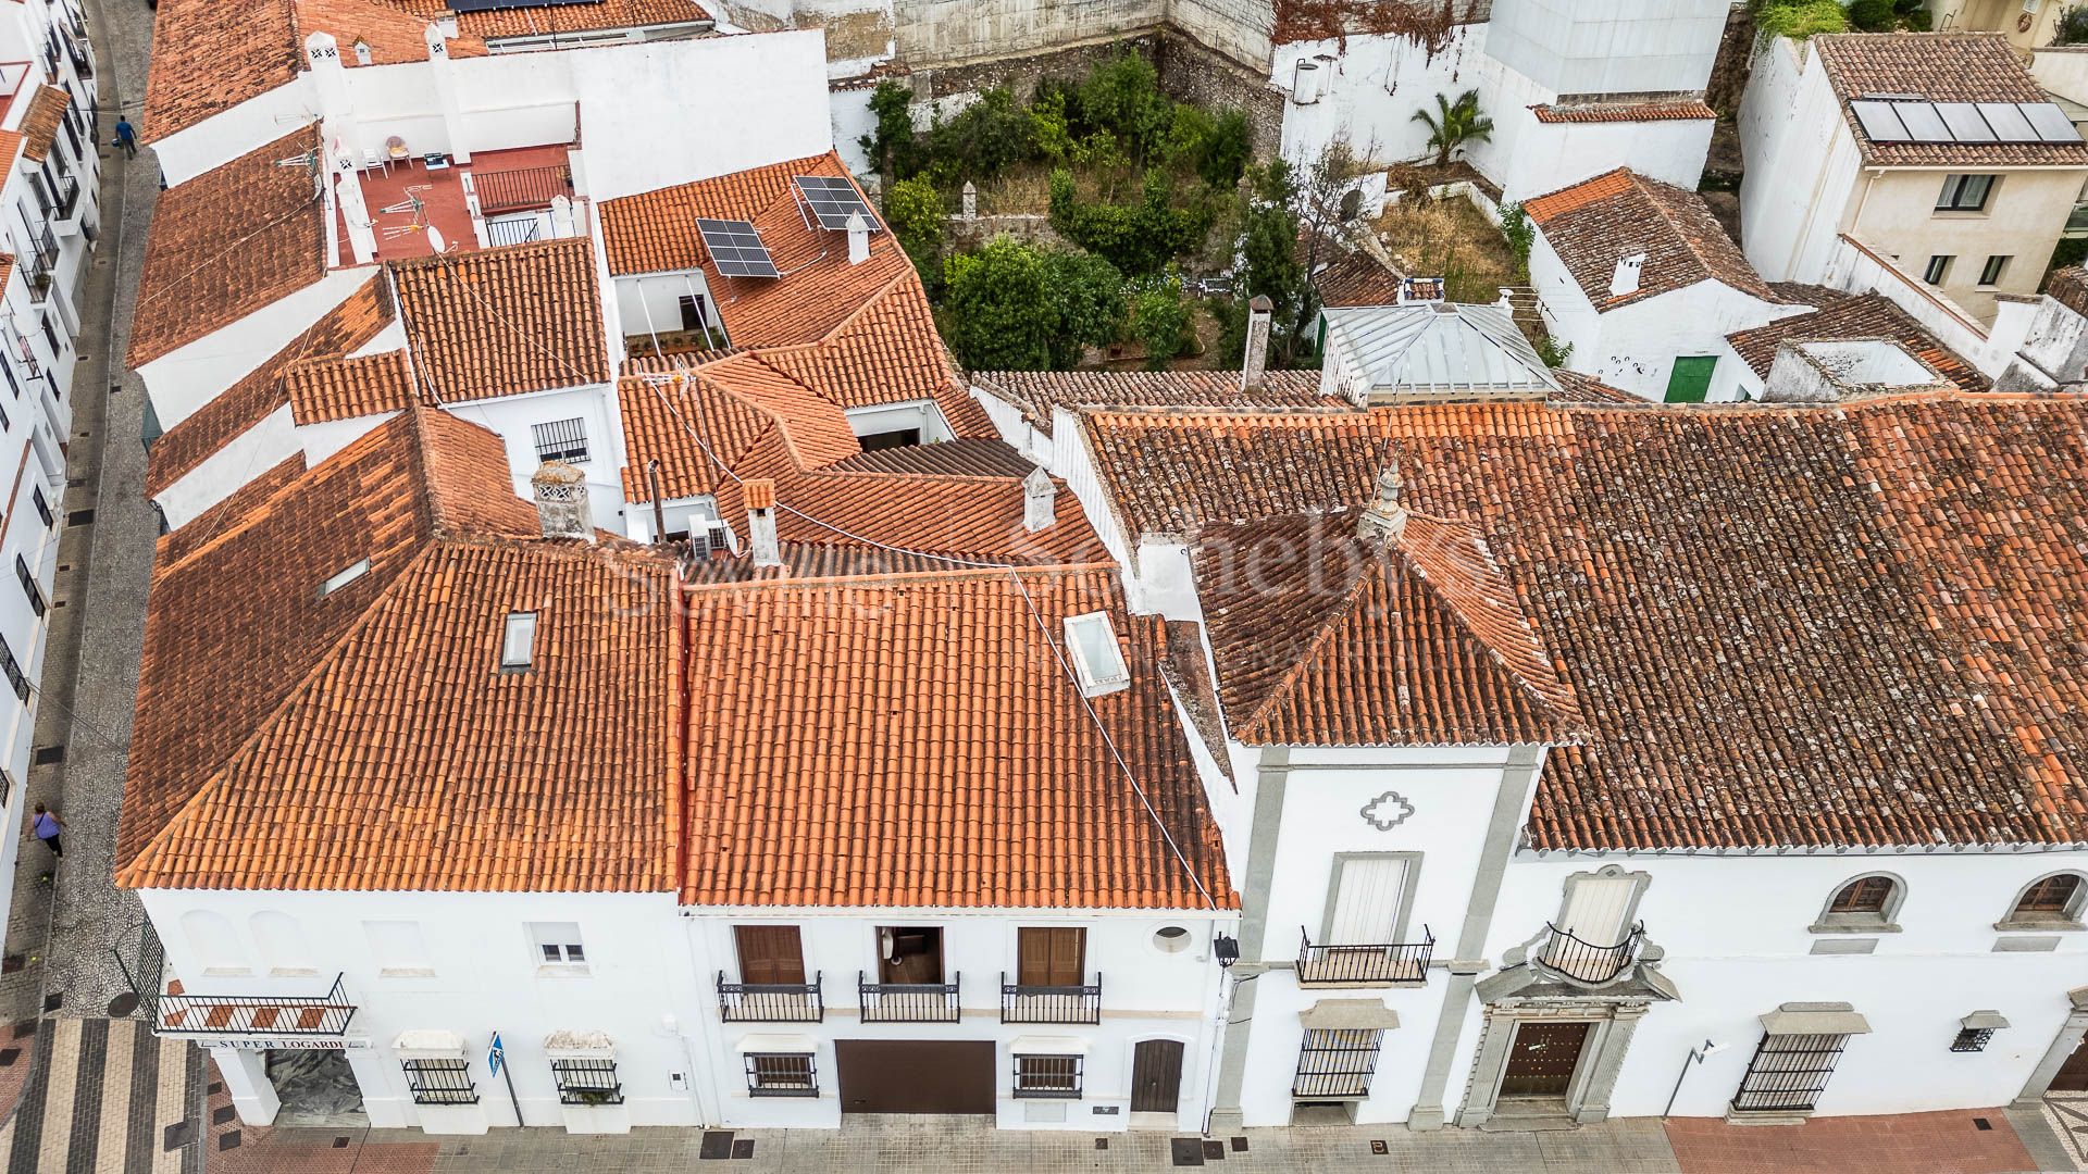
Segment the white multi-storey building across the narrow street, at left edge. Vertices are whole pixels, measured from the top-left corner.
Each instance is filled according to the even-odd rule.
[[[113,125],[113,123],[111,123]],[[88,255],[100,226],[100,125],[81,8],[17,4],[0,17],[0,451],[8,478],[0,562],[0,877],[23,850],[35,685],[58,564],[65,445]],[[42,852],[42,848],[31,848]],[[6,884],[6,882],[0,882]],[[0,896],[6,896],[0,888]]]

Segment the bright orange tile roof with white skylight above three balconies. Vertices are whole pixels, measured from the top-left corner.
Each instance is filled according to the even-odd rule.
[[[1155,668],[1159,620],[1130,614],[1111,568],[687,600],[689,721],[708,735],[683,902],[1207,909],[1201,882],[1238,907]],[[1065,616],[1092,610],[1132,685],[1090,704],[1153,815],[1054,654]]]

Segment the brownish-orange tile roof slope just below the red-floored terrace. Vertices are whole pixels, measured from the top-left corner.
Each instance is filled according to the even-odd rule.
[[[416,372],[443,403],[616,378],[585,236],[388,265]]]

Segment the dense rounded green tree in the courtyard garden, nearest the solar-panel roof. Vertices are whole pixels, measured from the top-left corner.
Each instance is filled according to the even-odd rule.
[[[1100,257],[998,236],[944,261],[944,338],[967,370],[1071,368],[1115,338],[1123,280]]]

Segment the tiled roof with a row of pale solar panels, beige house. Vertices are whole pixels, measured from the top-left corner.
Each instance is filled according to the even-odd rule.
[[[1812,38],[1862,161],[1890,167],[2088,167],[2080,142],[1871,142],[1850,102],[1913,94],[1929,102],[2048,102],[2000,33],[1833,33]]]

